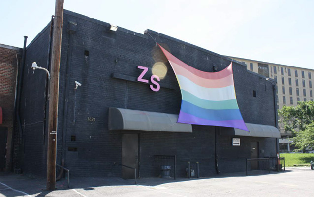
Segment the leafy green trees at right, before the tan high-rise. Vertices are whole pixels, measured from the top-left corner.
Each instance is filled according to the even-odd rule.
[[[293,131],[297,151],[314,148],[314,101],[301,101],[297,106],[283,106],[278,110],[285,131]]]

